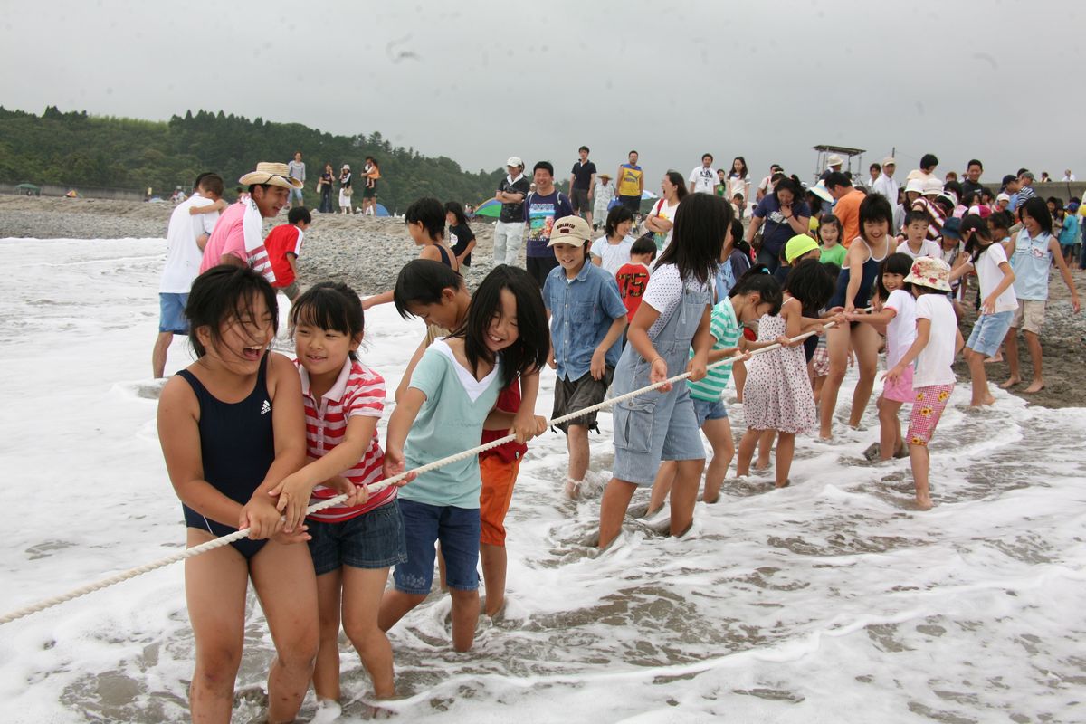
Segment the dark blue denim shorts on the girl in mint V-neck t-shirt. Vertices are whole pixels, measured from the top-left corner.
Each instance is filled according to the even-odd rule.
[[[433,585],[433,544],[441,542],[445,582],[457,590],[479,588],[479,509],[432,506],[400,498],[407,536],[407,562],[392,574],[396,590],[426,596]]]

